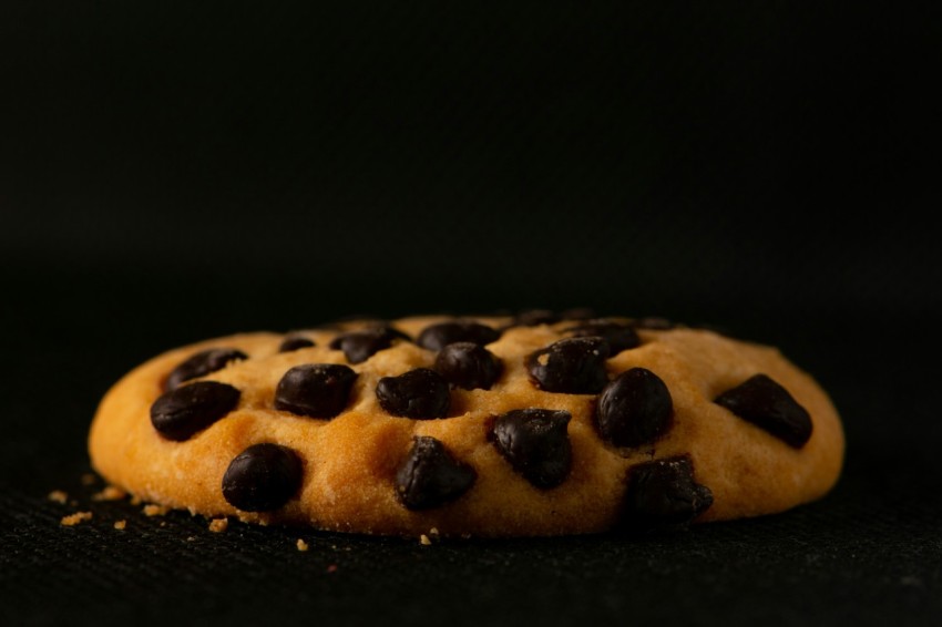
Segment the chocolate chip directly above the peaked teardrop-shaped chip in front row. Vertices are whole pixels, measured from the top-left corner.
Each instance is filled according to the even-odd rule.
[[[420,420],[444,418],[451,404],[448,381],[429,368],[383,377],[376,386],[376,398],[392,415]]]

